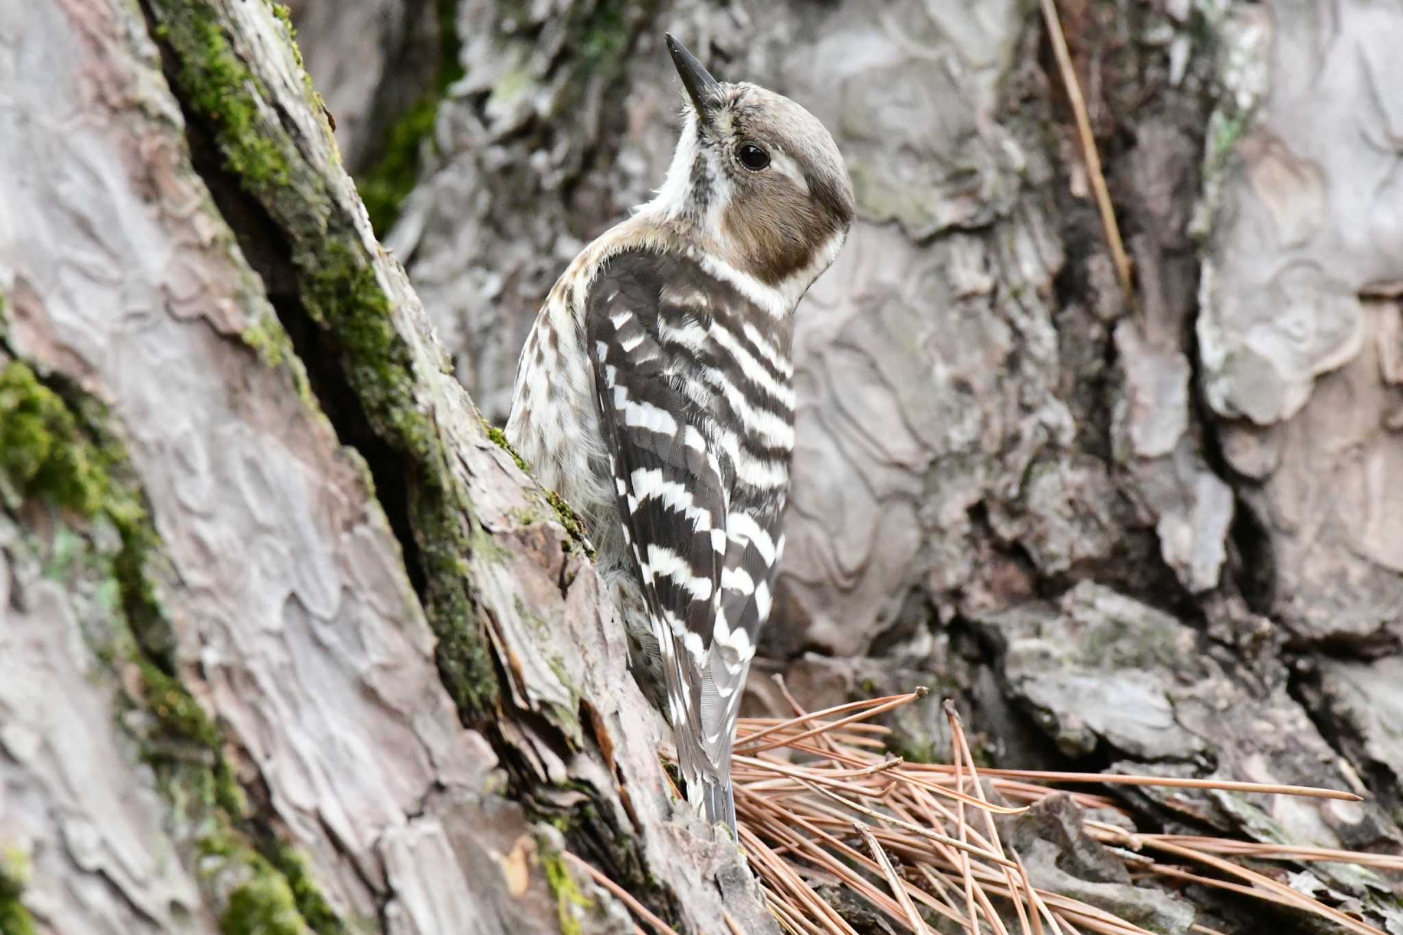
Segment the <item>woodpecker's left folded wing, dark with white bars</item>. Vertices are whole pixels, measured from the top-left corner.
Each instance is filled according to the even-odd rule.
[[[710,415],[679,374],[689,362],[666,338],[676,311],[661,307],[669,269],[648,254],[609,261],[589,289],[585,338],[624,540],[664,656],[665,714],[702,737],[730,485]]]

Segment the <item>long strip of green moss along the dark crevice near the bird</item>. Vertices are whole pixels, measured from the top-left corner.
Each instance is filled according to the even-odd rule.
[[[422,571],[422,600],[439,636],[445,685],[464,716],[490,715],[497,670],[483,621],[466,586],[474,528],[466,492],[452,477],[432,418],[415,400],[412,353],[396,331],[390,299],[352,219],[340,216],[318,168],[309,165],[265,101],[265,87],[239,59],[212,7],[149,0],[156,28],[175,59],[178,93],[206,123],[244,193],[288,240],[302,307],[340,345],[340,367],[375,435],[404,458],[412,477],[410,521]],[[254,332],[253,345],[271,349]],[[288,355],[276,346],[275,355]]]

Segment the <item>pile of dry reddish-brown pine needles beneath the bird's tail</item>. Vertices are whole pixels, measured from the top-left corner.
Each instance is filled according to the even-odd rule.
[[[976,770],[960,718],[950,702],[951,764],[906,763],[885,751],[888,728],[877,715],[925,697],[859,701],[805,714],[790,698],[788,721],[742,719],[732,781],[741,847],[760,879],[780,928],[796,935],[857,935],[822,893],[842,892],[885,917],[892,931],[991,935],[1152,935],[1080,900],[1037,889],[1019,856],[999,838],[995,816],[1017,814],[1058,795],[1049,782],[1127,784],[1264,792],[1358,800],[1348,792],[1303,786],[1172,779],[1080,772]],[[986,792],[988,791],[988,792]],[[991,795],[996,800],[991,800]],[[1403,856],[1282,847],[1256,841],[1179,834],[1141,834],[1114,800],[1073,792],[1089,810],[1124,816],[1110,823],[1089,816],[1086,833],[1115,848],[1134,879],[1197,883],[1319,917],[1341,932],[1388,935],[1240,861],[1331,861],[1403,872]],[[622,887],[582,861],[575,865],[619,896],[643,925],[676,935]],[[640,928],[640,932],[644,929]],[[732,925],[732,931],[738,929]],[[1212,935],[1214,929],[1194,925]]]

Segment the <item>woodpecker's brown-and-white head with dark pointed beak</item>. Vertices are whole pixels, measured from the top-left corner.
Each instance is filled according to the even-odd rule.
[[[668,36],[687,104],[668,179],[650,207],[731,266],[798,294],[838,255],[853,185],[833,137],[794,101],[717,81]]]

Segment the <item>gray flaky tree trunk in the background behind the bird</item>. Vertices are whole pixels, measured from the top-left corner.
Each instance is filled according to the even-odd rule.
[[[467,77],[387,243],[499,421],[554,276],[662,178],[662,32],[790,94],[860,223],[798,313],[770,670],[811,705],[939,685],[1000,764],[1354,788],[1132,800],[1397,852],[1403,15],[1058,7],[1134,301],[1031,1],[463,0]],[[908,753],[939,722],[904,715]],[[1397,880],[1319,886],[1403,925]]]

